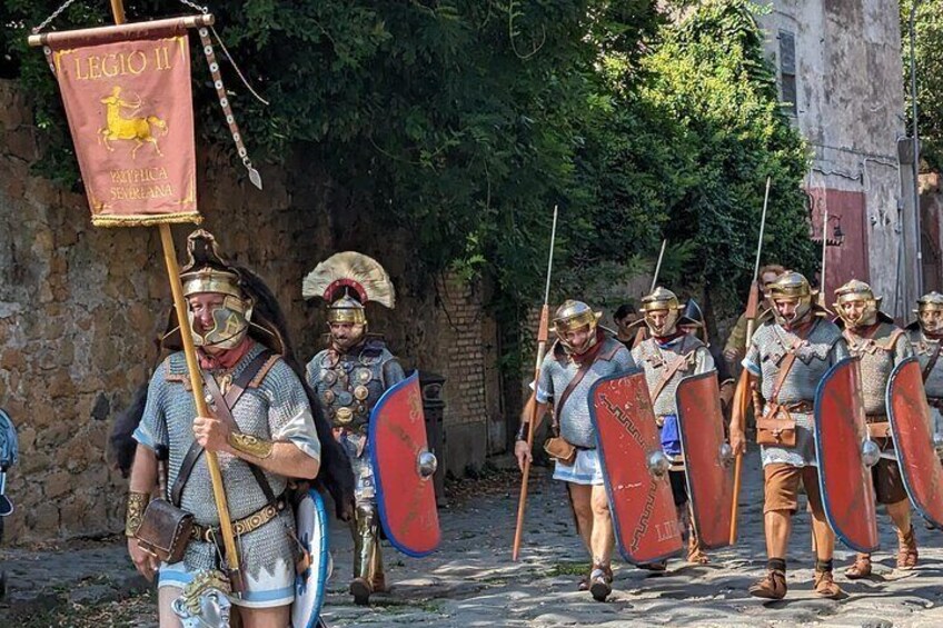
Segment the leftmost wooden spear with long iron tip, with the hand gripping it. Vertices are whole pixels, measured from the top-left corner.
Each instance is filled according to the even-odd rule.
[[[547,282],[544,289],[544,307],[540,309],[540,326],[537,331],[537,360],[534,366],[534,391],[529,400],[525,405],[524,412],[520,417],[520,431],[518,439],[514,445],[514,453],[517,456],[517,462],[520,466],[520,497],[517,501],[517,525],[514,530],[514,548],[512,550],[512,559],[517,560],[520,552],[520,539],[524,534],[524,509],[527,505],[527,482],[530,476],[530,461],[533,457],[530,449],[534,447],[534,430],[544,415],[547,412],[547,403],[537,402],[537,383],[540,379],[540,367],[544,363],[544,355],[547,350],[547,338],[549,337],[549,318],[550,318],[550,271],[554,267],[554,240],[557,235],[557,207],[554,207],[554,223],[550,229],[550,252],[547,261]],[[526,430],[527,439],[522,437]]]

